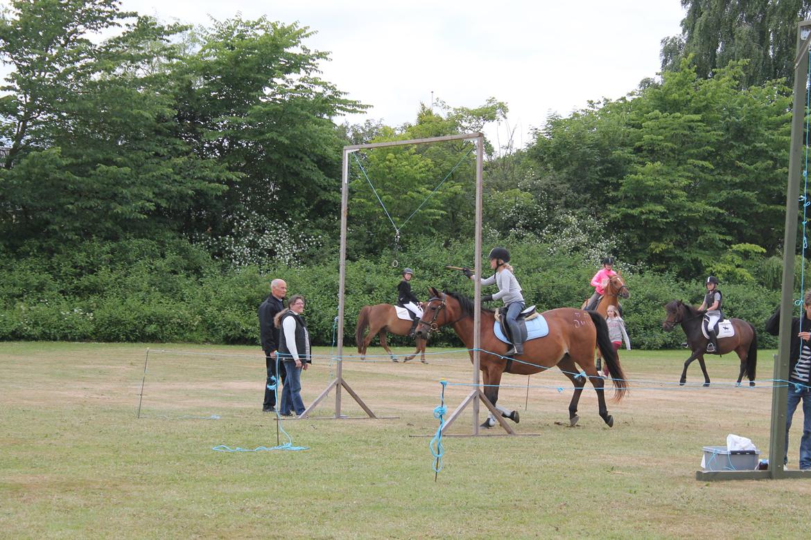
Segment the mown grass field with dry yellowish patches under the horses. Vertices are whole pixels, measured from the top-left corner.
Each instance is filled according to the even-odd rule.
[[[397,419],[357,419],[362,410],[343,393],[351,419],[282,423],[306,451],[215,452],[276,444],[275,415],[260,410],[257,352],[0,344],[0,537],[809,537],[811,482],[695,479],[702,446],[725,444],[728,433],[768,457],[773,351],[760,351],[754,389],[734,387],[730,355],[710,360],[713,386],[704,389],[697,365],[689,386],[672,384],[686,351],[623,351],[632,389],[609,402],[612,428],[590,385],[572,428],[571,385],[560,372],[532,376],[528,394],[526,376],[504,376],[500,404],[519,410],[517,431],[534,436],[489,436],[494,428],[446,437],[436,482],[430,437],[419,435],[436,432],[441,378],[461,383],[446,390],[449,411],[470,392],[466,354],[346,361],[352,388],[376,415]],[[316,352],[325,357],[303,376],[306,403],[332,380],[328,349]],[[315,415],[333,415],[334,396]],[[220,418],[184,418],[211,415]],[[471,424],[466,410],[452,431],[470,433]]]

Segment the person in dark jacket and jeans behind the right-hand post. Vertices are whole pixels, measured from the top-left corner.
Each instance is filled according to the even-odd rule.
[[[788,355],[788,403],[786,410],[786,453],[788,453],[788,430],[792,416],[800,402],[803,403],[803,435],[800,439],[800,469],[811,469],[811,291],[803,299],[803,317],[792,317],[792,347]],[[766,332],[780,332],[780,308],[766,321]],[[783,464],[787,464],[787,456]]]

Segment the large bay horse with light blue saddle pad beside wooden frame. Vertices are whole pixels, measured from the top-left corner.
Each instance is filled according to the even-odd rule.
[[[465,343],[473,359],[474,304],[470,298],[453,292],[440,292],[431,287],[431,300],[428,300],[423,317],[419,321],[417,334],[427,338],[431,330],[440,326],[453,325],[457,336]],[[575,308],[557,308],[543,312],[549,325],[549,334],[543,338],[531,339],[524,343],[524,354],[514,359],[504,353],[508,344],[500,341],[493,334],[494,313],[482,309],[482,351],[479,353],[479,368],[483,372],[484,394],[495,406],[499,398],[501,374],[504,372],[517,375],[530,375],[557,365],[574,385],[574,395],[569,403],[569,423],[574,426],[580,419],[577,416],[577,402],[586,385],[588,377],[597,391],[599,415],[608,424],[614,425],[614,419],[608,414],[603,386],[605,380],[594,367],[594,349],[599,347],[606,359],[608,370],[616,387],[614,401],[619,402],[628,391],[625,375],[608,339],[608,327],[605,319],[597,313]],[[578,368],[579,366],[579,368]],[[580,369],[586,372],[581,376]],[[497,407],[502,415],[517,422],[515,411],[509,412],[504,407]],[[487,421],[483,427],[490,427]]]

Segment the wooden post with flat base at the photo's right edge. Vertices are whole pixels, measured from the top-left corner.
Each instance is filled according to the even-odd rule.
[[[788,381],[788,355],[791,351],[792,313],[794,313],[794,246],[797,242],[797,196],[800,191],[800,164],[803,163],[805,91],[809,75],[811,20],[797,26],[797,55],[794,63],[794,103],[792,106],[792,148],[788,157],[786,188],[786,231],[783,239],[783,291],[780,296],[780,344],[775,357],[773,378]],[[697,480],[753,480],[766,478],[811,478],[811,470],[783,470],[786,453],[786,415],[788,388],[774,385],[771,393],[771,432],[767,470],[719,470],[696,472]]]

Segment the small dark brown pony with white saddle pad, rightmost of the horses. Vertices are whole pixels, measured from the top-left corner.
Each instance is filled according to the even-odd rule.
[[[684,335],[687,336],[687,345],[690,347],[690,351],[693,351],[693,354],[684,361],[684,370],[681,372],[679,384],[684,385],[687,382],[687,368],[694,359],[698,359],[698,364],[704,372],[704,385],[709,386],[710,376],[707,375],[706,364],[704,364],[704,355],[709,354],[706,352],[708,340],[702,332],[704,313],[690,304],[684,304],[681,300],[672,300],[665,304],[664,308],[667,311],[667,317],[662,323],[662,328],[670,331],[676,325],[681,325],[681,330],[684,330]],[[740,385],[745,372],[749,377],[749,386],[754,386],[755,368],[757,367],[757,332],[749,321],[730,319],[730,322],[735,327],[735,335],[730,338],[718,338],[718,352],[712,354],[725,355],[727,352],[735,351],[740,359],[737,384]]]

